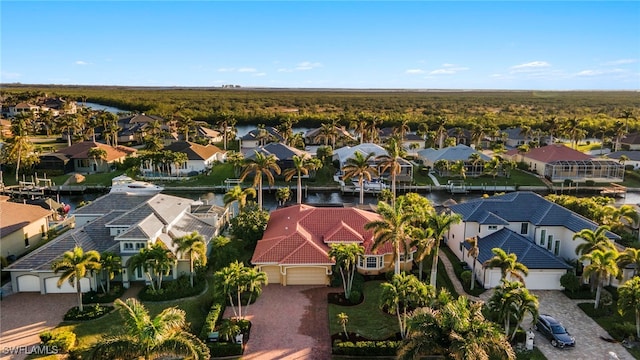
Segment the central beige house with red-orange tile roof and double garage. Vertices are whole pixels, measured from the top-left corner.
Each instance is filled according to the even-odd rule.
[[[258,240],[251,263],[267,274],[270,284],[328,285],[331,244],[356,243],[364,248],[357,271],[376,275],[393,271],[393,247],[385,244],[372,250],[373,232],[365,224],[380,215],[357,208],[294,205],[271,213],[267,228]],[[401,250],[402,251],[402,250]],[[415,250],[401,253],[401,268],[409,271]]]

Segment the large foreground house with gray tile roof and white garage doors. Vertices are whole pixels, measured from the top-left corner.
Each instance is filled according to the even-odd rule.
[[[177,262],[165,277],[177,279],[188,274],[189,260],[176,250],[173,240],[198,232],[209,241],[221,231],[216,211],[192,213],[194,201],[166,194],[129,195],[110,193],[76,210],[76,228],[65,232],[35,251],[18,259],[5,270],[11,273],[14,292],[71,293],[73,286],[58,287],[59,276],[52,264],[65,251],[80,246],[84,251],[113,252],[122,258],[123,269],[117,281],[129,287],[132,281],[147,281],[142,269],[127,268],[129,259],[140,249],[161,242],[171,250]],[[226,214],[222,214],[226,218]],[[100,273],[82,279],[83,291],[96,290],[104,279]]]

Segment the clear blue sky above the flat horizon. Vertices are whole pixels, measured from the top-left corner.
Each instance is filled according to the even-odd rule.
[[[0,2],[0,82],[640,89],[639,1]]]

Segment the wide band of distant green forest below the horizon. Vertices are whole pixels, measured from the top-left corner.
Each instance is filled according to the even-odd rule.
[[[173,88],[4,84],[3,104],[38,96],[60,96],[131,112],[171,118],[176,114],[216,124],[232,117],[238,125],[278,125],[290,121],[317,127],[337,122],[348,126],[374,117],[382,126],[446,121],[447,128],[529,126],[545,129],[579,123],[588,134],[616,121],[628,132],[640,131],[640,93],[636,91],[420,91],[341,89]],[[555,126],[554,126],[555,125]]]

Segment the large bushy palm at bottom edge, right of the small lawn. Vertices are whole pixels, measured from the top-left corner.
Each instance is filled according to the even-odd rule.
[[[398,349],[398,359],[437,354],[460,360],[515,360],[511,344],[494,322],[485,319],[482,307],[482,302],[460,296],[440,308],[415,310],[408,321],[408,336]]]

